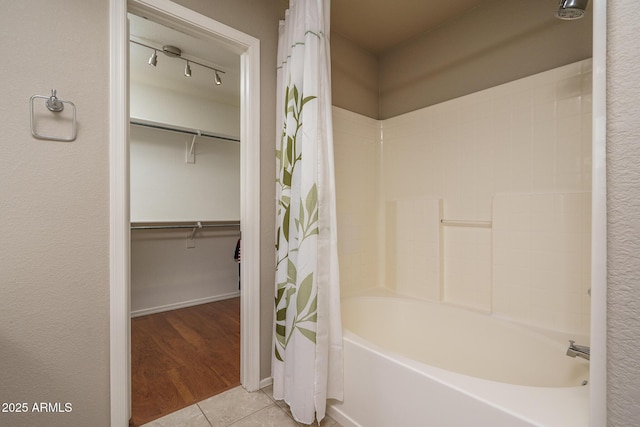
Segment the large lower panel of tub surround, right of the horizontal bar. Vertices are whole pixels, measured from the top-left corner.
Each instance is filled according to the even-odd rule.
[[[492,312],[589,335],[591,193],[496,195]]]

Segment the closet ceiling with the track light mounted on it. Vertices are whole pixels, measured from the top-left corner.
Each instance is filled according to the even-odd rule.
[[[130,78],[150,86],[198,96],[231,105],[240,104],[240,56],[221,43],[203,40],[129,14],[130,39],[158,49],[158,63],[149,65],[152,49],[130,43]],[[186,62],[162,53],[163,45],[182,50],[182,57],[224,71],[222,85],[214,82],[213,70],[190,63],[191,77],[185,77]]]

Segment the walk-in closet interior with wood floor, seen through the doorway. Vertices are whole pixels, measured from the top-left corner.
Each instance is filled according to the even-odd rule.
[[[136,424],[239,384],[240,57],[129,20]]]

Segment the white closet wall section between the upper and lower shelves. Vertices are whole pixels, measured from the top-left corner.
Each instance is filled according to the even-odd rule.
[[[240,144],[131,126],[131,221],[240,219]]]

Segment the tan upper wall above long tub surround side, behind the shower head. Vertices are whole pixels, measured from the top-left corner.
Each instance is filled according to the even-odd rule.
[[[590,58],[591,19],[561,21],[556,7],[555,0],[489,1],[383,53],[378,118]]]

